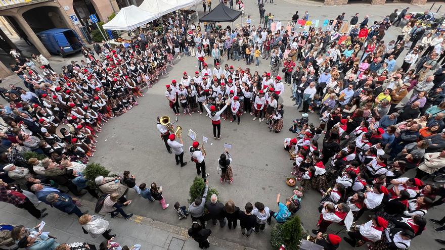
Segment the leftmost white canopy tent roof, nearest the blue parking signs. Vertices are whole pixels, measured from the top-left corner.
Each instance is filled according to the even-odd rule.
[[[132,30],[158,18],[156,13],[147,12],[134,5],[120,9],[117,15],[102,27],[109,30]]]

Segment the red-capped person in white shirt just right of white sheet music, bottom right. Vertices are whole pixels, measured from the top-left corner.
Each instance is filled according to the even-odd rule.
[[[352,247],[362,246],[366,241],[380,240],[382,232],[388,227],[388,221],[380,216],[371,216],[371,220],[359,227],[358,232],[348,232],[348,237],[343,237]]]

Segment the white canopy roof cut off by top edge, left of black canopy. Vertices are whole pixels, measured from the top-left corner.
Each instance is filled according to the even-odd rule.
[[[139,8],[157,13],[161,17],[192,5],[195,5],[195,0],[145,0]]]

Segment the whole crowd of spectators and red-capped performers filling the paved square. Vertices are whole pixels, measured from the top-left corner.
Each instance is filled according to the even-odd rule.
[[[205,3],[210,8],[211,2]],[[202,197],[188,208],[174,204],[179,219],[190,215],[193,224],[188,233],[201,248],[209,247],[211,230],[206,221],[235,229],[239,220],[241,233],[249,237],[253,231],[264,230],[272,217],[277,223],[286,222],[298,211],[302,192],[308,189],[322,195],[319,228],[313,233],[316,243],[325,249],[336,249],[342,241],[335,234],[324,235],[332,223],[351,229],[344,241],[352,246],[366,242],[372,249],[409,246],[424,230],[428,209],[443,204],[445,197],[444,187],[423,182],[445,163],[445,67],[439,63],[445,55],[445,42],[443,34],[423,26],[434,18],[432,13],[412,18],[396,40],[388,41],[385,31],[400,22],[409,8],[373,24],[368,23],[368,16],[359,22],[358,13],[344,22],[342,13],[326,29],[303,30],[301,25],[298,32],[298,20],[308,20],[307,12],[301,19],[296,12],[289,30],[280,21],[274,22],[271,13],[265,14],[263,3],[258,2],[258,7],[263,22],[258,27],[251,22],[239,30],[207,24],[201,30],[183,16],[169,18],[169,29],[162,34],[141,33],[114,48],[106,42],[95,43],[93,49],[84,47],[84,60],[79,64],[72,61],[60,74],[42,56],[29,60],[15,52],[11,69],[27,89],[15,85],[0,89],[9,103],[0,105],[0,116],[9,125],[0,134],[4,164],[0,201],[27,210],[36,219],[48,215],[47,209],[36,208],[40,202],[46,203],[78,216],[79,224],[92,237],[102,235],[106,240],[100,249],[139,249],[140,245],[121,247],[116,243],[109,222],[80,211],[77,197],[88,192],[101,205],[95,212],[109,213],[112,218],[120,214],[127,220],[132,216],[123,210],[132,203],[125,196],[129,188],[151,202],[159,201],[166,209],[169,204],[162,186],[154,182],[150,187],[138,185],[135,176],[125,171],[122,177],[95,179],[98,189],[106,194],[101,196],[86,184],[82,171],[94,156],[101,126],[137,106],[142,87],[156,83],[175,57],[192,56],[199,71],[191,75],[185,71],[181,79],[171,80],[165,86],[165,96],[175,115],[206,114],[214,139],[221,138],[221,118],[240,124],[247,113],[252,120],[266,120],[270,131],[280,132],[286,85],[302,113],[289,128],[295,138],[284,141],[294,161],[291,174],[300,188],[286,203],[277,195],[278,212],[260,202],[246,203],[241,211],[233,201],[222,204],[214,194],[207,201],[207,183]],[[397,69],[395,60],[405,48],[404,63]],[[209,58],[213,59],[212,69],[207,64]],[[260,58],[270,65],[270,72],[251,72],[249,67],[229,63],[243,60],[247,66],[258,65]],[[401,105],[409,92],[408,101]],[[307,113],[320,115],[319,125],[310,123]],[[58,129],[61,124],[65,126]],[[182,137],[170,134],[160,118],[157,129],[167,151],[174,153],[176,165],[185,166]],[[323,142],[319,143],[321,137]],[[189,151],[197,174],[206,180],[205,150],[195,142]],[[26,160],[27,152],[47,158]],[[231,162],[226,150],[218,160],[221,184],[233,183]],[[415,169],[416,176],[402,177],[410,169]],[[440,198],[435,201],[436,197]],[[371,219],[351,226],[365,212],[372,214]],[[443,225],[445,219],[430,221]],[[59,244],[37,230],[39,225],[6,228],[11,242],[21,248],[95,247],[79,242]]]

